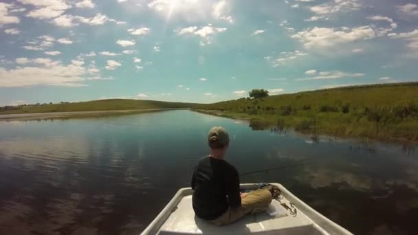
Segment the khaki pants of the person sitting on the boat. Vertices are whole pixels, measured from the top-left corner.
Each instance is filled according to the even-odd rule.
[[[209,221],[215,225],[228,225],[241,219],[246,214],[256,214],[264,212],[272,202],[272,194],[269,190],[258,189],[248,192],[241,199],[239,208],[229,208],[228,211],[221,214],[217,219]]]

